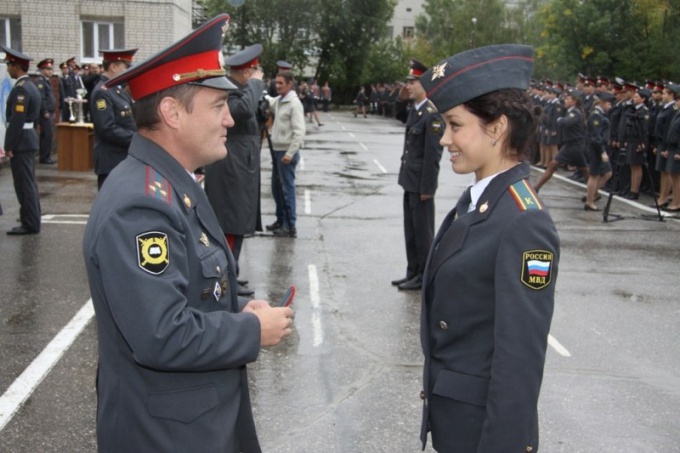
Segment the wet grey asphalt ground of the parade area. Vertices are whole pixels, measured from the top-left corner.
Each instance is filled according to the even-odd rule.
[[[258,298],[298,289],[295,333],[249,367],[261,443],[267,452],[416,452],[420,297],[389,283],[405,272],[403,126],[322,118],[323,127],[308,125],[298,167],[298,238],[246,239],[241,258]],[[268,150],[262,156],[267,224],[271,162]],[[437,223],[470,176],[455,175],[445,155],[439,179]],[[87,310],[82,332],[65,329],[72,345],[15,404],[89,299],[81,241],[95,176],[40,165],[38,184],[41,233],[0,235],[0,452],[92,452],[96,328]],[[541,451],[680,451],[680,221],[655,220],[645,197],[615,199],[623,218],[604,223],[583,211],[583,194],[559,176],[541,191],[562,241]],[[2,233],[18,212],[7,167],[0,202]]]

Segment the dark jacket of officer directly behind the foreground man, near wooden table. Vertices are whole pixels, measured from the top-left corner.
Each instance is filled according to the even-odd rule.
[[[90,96],[94,124],[94,172],[111,173],[127,157],[132,136],[137,131],[132,117],[132,98],[120,85],[106,88],[102,76]]]

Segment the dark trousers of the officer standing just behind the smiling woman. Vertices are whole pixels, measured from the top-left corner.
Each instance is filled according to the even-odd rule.
[[[434,198],[421,201],[419,193],[404,192],[406,277],[422,276],[434,240]]]

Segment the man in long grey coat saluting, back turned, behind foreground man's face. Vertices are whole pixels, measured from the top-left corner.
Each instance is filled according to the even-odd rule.
[[[228,101],[235,125],[227,131],[227,157],[205,169],[205,192],[237,265],[243,238],[255,232],[260,216],[262,139],[257,108],[265,89],[263,73],[258,66],[261,53],[262,45],[253,44],[225,61],[230,68],[227,78],[238,87]],[[249,296],[254,291],[239,287],[238,293]]]

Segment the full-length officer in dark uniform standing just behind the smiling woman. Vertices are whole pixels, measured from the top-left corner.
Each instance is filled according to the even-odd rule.
[[[414,102],[406,121],[404,154],[401,156],[399,185],[404,189],[404,238],[406,277],[393,280],[399,289],[420,289],[425,261],[434,239],[434,194],[439,179],[439,161],[444,122],[427,99],[420,76],[427,71],[417,60],[410,61],[408,92]]]

